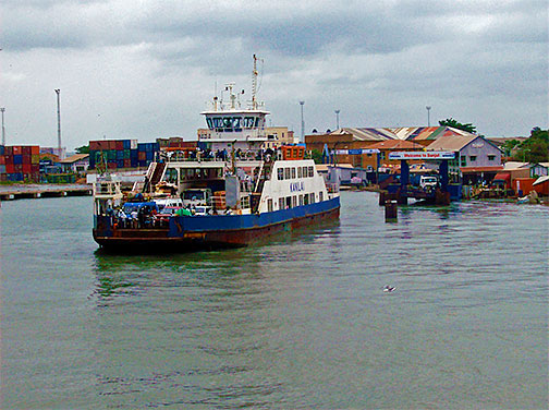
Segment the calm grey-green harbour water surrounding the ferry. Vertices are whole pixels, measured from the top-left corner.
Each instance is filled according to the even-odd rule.
[[[163,256],[97,252],[90,197],[0,218],[3,409],[548,407],[548,207],[386,224],[344,192],[339,224]]]

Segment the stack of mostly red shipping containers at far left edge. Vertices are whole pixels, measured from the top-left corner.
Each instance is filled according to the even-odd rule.
[[[38,145],[0,145],[0,181],[40,182]]]

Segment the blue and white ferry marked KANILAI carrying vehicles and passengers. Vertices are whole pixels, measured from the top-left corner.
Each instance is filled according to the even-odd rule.
[[[245,246],[339,218],[339,186],[317,172],[303,144],[265,149],[269,111],[256,100],[255,56],[252,100],[245,107],[243,93],[233,88],[228,84],[211,109],[202,112],[208,133],[198,137],[196,148],[160,152],[133,197],[122,193],[117,176],[97,177],[93,234],[101,248],[186,252]]]

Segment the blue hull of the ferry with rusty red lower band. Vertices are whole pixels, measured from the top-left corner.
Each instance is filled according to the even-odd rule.
[[[96,217],[94,239],[106,250],[166,250],[246,246],[264,237],[339,217],[340,198],[252,215],[173,216],[167,228],[120,229]]]

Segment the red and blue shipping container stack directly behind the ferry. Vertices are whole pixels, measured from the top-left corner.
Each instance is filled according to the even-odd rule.
[[[89,169],[101,158],[108,169],[146,168],[159,150],[157,143],[137,143],[137,140],[100,140],[89,142]]]

